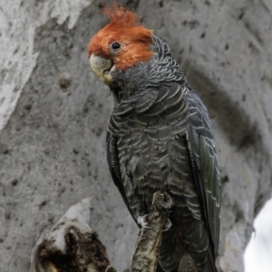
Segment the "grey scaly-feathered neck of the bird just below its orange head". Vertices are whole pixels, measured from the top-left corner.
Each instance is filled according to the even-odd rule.
[[[160,38],[153,36],[152,50],[154,55],[145,63],[137,63],[126,71],[112,73],[111,91],[118,102],[123,94],[135,95],[158,88],[164,84],[185,84],[180,65],[170,54],[170,49]]]

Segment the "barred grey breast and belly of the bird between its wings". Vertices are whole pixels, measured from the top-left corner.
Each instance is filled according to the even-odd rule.
[[[153,193],[164,189],[185,216],[194,214],[199,219],[186,141],[189,111],[182,99],[185,91],[177,84],[157,91],[148,92],[147,102],[130,96],[112,112],[108,130],[117,139],[121,182],[127,199],[137,195],[151,207]]]

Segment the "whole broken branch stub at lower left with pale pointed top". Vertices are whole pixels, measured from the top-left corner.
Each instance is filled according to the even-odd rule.
[[[73,205],[37,241],[30,272],[104,272],[106,249],[89,227],[91,199]]]

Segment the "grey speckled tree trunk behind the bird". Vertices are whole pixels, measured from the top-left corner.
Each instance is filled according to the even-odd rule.
[[[223,190],[218,266],[241,272],[253,219],[271,193],[271,1],[117,2],[168,42],[209,109]],[[43,230],[87,197],[112,265],[130,266],[137,228],[105,155],[112,96],[86,52],[108,22],[103,3],[0,0],[2,272],[29,271]]]

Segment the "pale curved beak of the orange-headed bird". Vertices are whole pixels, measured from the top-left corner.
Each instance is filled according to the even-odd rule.
[[[109,84],[112,82],[112,71],[115,71],[115,65],[109,59],[104,59],[102,56],[91,54],[90,66],[92,72],[102,80],[103,83]]]

